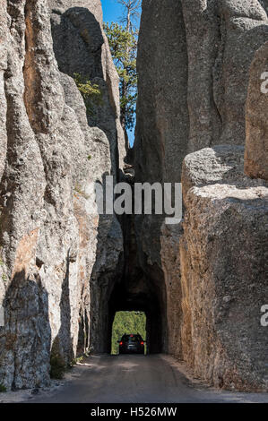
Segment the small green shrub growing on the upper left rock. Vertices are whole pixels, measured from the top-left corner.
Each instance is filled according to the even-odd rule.
[[[101,106],[102,92],[97,83],[92,83],[88,76],[84,76],[80,73],[73,73],[73,79],[76,83],[78,90],[82,94],[87,113],[92,115],[94,113],[94,107]]]

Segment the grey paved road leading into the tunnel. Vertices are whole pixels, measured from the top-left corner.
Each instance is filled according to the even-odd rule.
[[[215,391],[190,382],[177,360],[164,355],[87,358],[56,392],[40,392],[34,403],[268,402],[268,393]]]

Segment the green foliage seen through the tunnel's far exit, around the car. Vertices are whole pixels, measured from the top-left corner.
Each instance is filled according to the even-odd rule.
[[[118,343],[122,336],[140,333],[146,340],[146,316],[143,312],[117,312],[113,323],[111,354],[118,354]]]

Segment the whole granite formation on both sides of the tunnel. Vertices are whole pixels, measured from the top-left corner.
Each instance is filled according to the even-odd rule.
[[[48,385],[51,357],[109,351],[115,312],[141,310],[151,353],[220,388],[268,390],[267,97],[257,89],[267,12],[266,0],[143,0],[125,172],[100,1],[1,2],[1,385]],[[99,86],[91,109],[75,74]],[[99,215],[91,185],[107,175],[181,180],[182,223]]]

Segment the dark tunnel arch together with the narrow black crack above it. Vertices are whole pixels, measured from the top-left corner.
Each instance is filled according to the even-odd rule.
[[[133,215],[121,221],[124,253],[115,272],[91,278],[90,346],[96,353],[111,353],[112,327],[120,311],[146,315],[147,354],[167,353],[167,290],[163,271],[148,256],[138,253]]]

